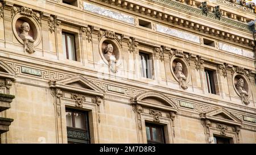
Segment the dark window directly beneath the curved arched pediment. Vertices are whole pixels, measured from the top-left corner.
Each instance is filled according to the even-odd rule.
[[[163,125],[146,123],[148,144],[165,143]]]

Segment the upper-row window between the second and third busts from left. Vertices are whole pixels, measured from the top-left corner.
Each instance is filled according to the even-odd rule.
[[[146,53],[139,52],[141,57],[141,76],[145,78],[152,78],[152,60]]]

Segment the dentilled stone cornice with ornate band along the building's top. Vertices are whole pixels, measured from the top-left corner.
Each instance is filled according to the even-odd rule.
[[[230,33],[228,31],[229,28],[224,28],[223,30],[220,30],[213,26],[209,27],[209,26],[206,26],[206,24],[195,23],[192,20],[182,19],[180,17],[167,14],[166,12],[161,12],[156,9],[146,8],[146,7],[142,6],[142,4],[137,4],[137,3],[135,4],[132,2],[120,1],[120,0],[112,0],[112,1],[88,0],[88,1],[98,3],[100,5],[104,5],[107,7],[112,7],[113,9],[122,10],[122,11],[128,12],[129,14],[141,15],[141,16],[144,16],[144,15],[151,16],[151,18],[155,18],[155,20],[162,20],[163,22],[172,23],[172,24],[175,24],[176,26],[183,26],[184,28],[191,28],[200,33],[204,32],[209,35],[221,37],[221,39],[224,38],[229,41],[236,41],[237,43],[241,43],[241,44],[245,44],[245,45],[249,45],[249,46],[254,45],[254,41],[252,39],[248,39],[248,37]],[[197,9],[195,7],[185,5],[185,4],[182,4],[179,2],[166,1],[166,0],[150,0],[150,1],[151,1],[151,3],[158,3],[161,6],[162,5],[167,6],[168,4],[172,4],[174,7],[172,7],[172,5],[171,5],[170,6],[171,9],[175,9],[177,11],[185,10],[189,14],[194,14],[196,16],[200,16],[200,18],[209,19],[209,20],[211,20],[210,22],[213,22],[213,23],[219,22],[219,24],[221,24],[223,27],[232,26],[233,28],[238,29],[238,32],[243,31],[243,32],[251,33],[249,31],[249,26],[247,26],[247,24],[238,22],[233,19],[224,18],[224,17],[221,17],[220,20],[214,19],[214,14],[212,12],[210,12],[208,16],[203,16],[201,14],[200,9]],[[162,3],[160,3],[160,2],[162,2]],[[251,38],[252,38],[252,35],[251,35]]]

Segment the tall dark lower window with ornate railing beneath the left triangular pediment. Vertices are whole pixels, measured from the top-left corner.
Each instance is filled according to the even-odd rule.
[[[66,109],[68,143],[90,143],[87,111]]]

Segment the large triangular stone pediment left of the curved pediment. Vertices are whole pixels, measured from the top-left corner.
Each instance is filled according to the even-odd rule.
[[[58,81],[51,81],[49,85],[50,87],[57,87],[67,91],[76,91],[82,94],[104,96],[104,90],[100,89],[100,87],[94,85],[81,75],[60,79]]]

